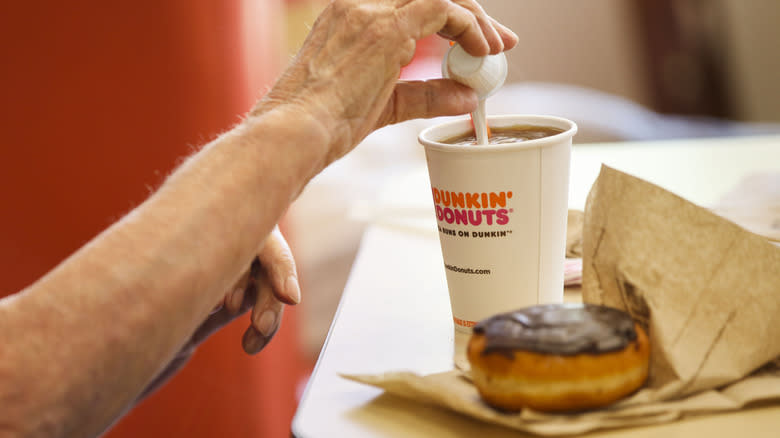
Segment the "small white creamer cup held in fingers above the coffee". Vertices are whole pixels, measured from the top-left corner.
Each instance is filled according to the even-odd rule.
[[[485,99],[498,91],[506,80],[507,64],[504,52],[497,55],[471,56],[460,44],[450,47],[444,55],[441,73],[477,92]]]

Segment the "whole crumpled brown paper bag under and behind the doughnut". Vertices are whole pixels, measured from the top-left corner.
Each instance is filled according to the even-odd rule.
[[[457,370],[344,377],[549,436],[780,401],[780,248],[765,238],[605,166],[586,205],[583,271],[584,301],[628,311],[651,339],[649,381],[607,408],[502,413]]]

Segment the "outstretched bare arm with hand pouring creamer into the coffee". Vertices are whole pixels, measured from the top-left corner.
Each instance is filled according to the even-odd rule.
[[[377,127],[474,109],[474,93],[452,81],[396,84],[415,41],[440,32],[484,55],[516,37],[473,0],[397,3],[332,2],[244,122],[0,300],[0,436],[101,433],[198,335],[311,177]],[[280,309],[270,293],[257,296],[255,310]],[[262,314],[253,312],[255,329]],[[251,338],[245,349],[262,347]]]

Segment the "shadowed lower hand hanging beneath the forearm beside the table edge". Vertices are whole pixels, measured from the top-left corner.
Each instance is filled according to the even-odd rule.
[[[279,329],[284,304],[297,304],[299,301],[295,260],[284,236],[275,227],[249,268],[165,369],[146,387],[139,400],[179,371],[198,345],[250,308],[253,309],[251,323],[244,332],[242,346],[249,354],[259,352]]]

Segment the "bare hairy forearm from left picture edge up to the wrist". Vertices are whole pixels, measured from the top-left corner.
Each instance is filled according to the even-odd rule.
[[[93,436],[110,425],[324,165],[320,133],[281,111],[248,120],[36,284],[0,301],[0,427]]]

